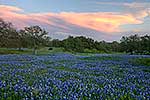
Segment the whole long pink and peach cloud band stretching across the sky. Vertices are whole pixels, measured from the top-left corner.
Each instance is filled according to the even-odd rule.
[[[28,25],[45,26],[51,31],[72,33],[75,29],[88,29],[112,34],[121,32],[120,26],[126,24],[141,24],[148,12],[143,10],[135,15],[118,12],[61,12],[61,13],[24,13],[23,9],[0,5],[0,17],[14,23],[18,28]],[[86,31],[86,30],[85,30]]]

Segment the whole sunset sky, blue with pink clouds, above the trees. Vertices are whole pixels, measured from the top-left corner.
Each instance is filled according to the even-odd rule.
[[[0,0],[0,18],[18,29],[39,25],[57,39],[119,41],[150,34],[150,0]]]

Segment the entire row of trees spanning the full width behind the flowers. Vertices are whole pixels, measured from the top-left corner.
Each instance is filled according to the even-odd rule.
[[[69,52],[150,54],[150,35],[131,35],[122,37],[120,42],[95,41],[84,36],[58,40],[48,36],[48,32],[39,26],[17,30],[12,23],[0,19],[0,47],[33,48],[34,54],[40,47],[62,47]]]

